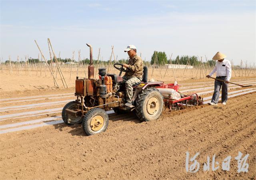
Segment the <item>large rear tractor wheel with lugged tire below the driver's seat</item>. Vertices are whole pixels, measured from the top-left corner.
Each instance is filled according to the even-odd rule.
[[[162,113],[164,97],[158,89],[143,90],[136,99],[136,115],[140,121],[155,121]]]

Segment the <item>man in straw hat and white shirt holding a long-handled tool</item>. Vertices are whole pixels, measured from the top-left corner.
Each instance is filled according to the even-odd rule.
[[[218,105],[219,96],[220,96],[220,88],[221,90],[221,102],[223,105],[226,105],[228,100],[228,83],[231,78],[231,63],[229,60],[225,59],[226,55],[217,52],[213,60],[216,60],[216,64],[212,72],[206,77],[210,78],[216,72],[216,79],[220,79],[223,81],[215,80],[214,82],[214,93],[212,95],[212,102],[210,105]]]

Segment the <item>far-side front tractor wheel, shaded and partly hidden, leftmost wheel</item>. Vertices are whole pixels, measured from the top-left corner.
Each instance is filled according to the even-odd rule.
[[[71,101],[69,103],[67,103],[64,108],[62,109],[62,119],[64,121],[64,123],[66,123],[66,125],[75,125],[75,124],[81,124],[83,117],[77,116],[74,117],[72,115],[68,115],[66,113],[66,109],[72,109],[72,110],[76,110],[78,107],[77,103],[75,101]]]

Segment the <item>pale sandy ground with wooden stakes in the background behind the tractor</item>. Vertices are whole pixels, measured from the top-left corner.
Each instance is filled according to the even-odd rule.
[[[66,79],[66,83],[68,87],[74,87],[75,86],[75,79],[76,79],[76,70],[71,74],[70,77],[70,72],[69,69],[62,69],[64,77]],[[95,73],[98,73],[98,70],[95,69]],[[152,73],[153,71],[153,73]],[[185,71],[185,73],[184,73]],[[210,73],[211,69],[208,70],[208,73]],[[110,73],[115,73],[118,74],[119,71],[110,68]],[[42,72],[40,76],[40,71],[31,71],[31,75],[26,75],[25,71],[18,72],[18,71],[13,71],[12,74],[9,73],[8,70],[3,71],[0,73],[0,92],[6,92],[6,91],[28,91],[28,90],[54,90],[56,87],[54,87],[54,80],[50,73],[46,71],[46,73]],[[87,76],[87,70],[84,73],[83,69],[80,69],[78,71],[78,76],[79,77],[85,77],[85,74]],[[208,74],[207,73],[207,74]],[[46,75],[45,75],[46,74]],[[252,78],[256,77],[256,71],[252,70],[250,71],[250,77],[248,77],[248,73],[246,73],[246,77],[242,77],[242,71],[239,73],[237,70],[232,71],[232,80],[236,79],[246,79],[246,78]],[[124,75],[124,73],[122,74]],[[165,75],[165,76],[164,76]],[[148,71],[148,79],[155,79],[159,81],[164,81],[166,83],[174,83],[175,77],[178,83],[182,81],[182,83],[186,82],[203,82],[203,81],[209,81],[206,79],[206,74],[201,73],[202,79],[200,79],[200,69],[149,69]],[[244,75],[244,72],[243,72]],[[204,77],[204,78],[203,78]],[[96,78],[98,78],[98,75],[96,75]],[[56,81],[61,89],[64,88],[62,84],[62,80],[60,79],[60,75],[57,74]],[[64,80],[63,80],[64,81]]]

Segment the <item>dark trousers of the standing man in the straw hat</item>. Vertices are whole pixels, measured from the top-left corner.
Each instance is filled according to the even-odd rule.
[[[226,81],[226,76],[216,77],[216,79],[221,79]],[[215,80],[214,82],[214,93],[212,95],[212,103],[218,103],[221,89],[221,102],[224,103],[228,100],[228,83]]]

